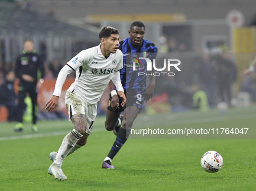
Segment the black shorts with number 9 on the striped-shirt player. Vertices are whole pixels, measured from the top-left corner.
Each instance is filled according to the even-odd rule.
[[[126,90],[124,90],[124,94],[126,96]],[[109,95],[109,100],[107,103],[107,109],[112,111],[112,112],[122,112],[126,107],[130,107],[130,106],[136,106],[139,108],[139,113],[142,110],[142,106],[144,103],[144,99],[145,99],[145,92],[133,92],[133,93],[129,93],[128,97],[126,96],[126,104],[122,107],[121,103],[123,101],[123,98],[120,97],[118,95],[119,98],[119,109],[113,110],[112,107],[110,106],[112,97],[111,94]]]

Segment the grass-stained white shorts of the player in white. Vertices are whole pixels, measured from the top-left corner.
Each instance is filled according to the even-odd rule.
[[[97,103],[89,104],[84,101],[77,94],[67,90],[65,103],[68,109],[69,119],[75,114],[84,114],[86,119],[86,133],[91,134],[94,121],[97,115]]]

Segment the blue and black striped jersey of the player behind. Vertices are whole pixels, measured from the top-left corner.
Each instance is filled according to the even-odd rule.
[[[147,57],[151,60],[156,58],[158,51],[156,45],[143,39],[143,46],[136,49],[130,44],[130,38],[126,38],[120,41],[118,49],[123,52],[123,69],[120,70],[123,89],[133,91],[143,91],[144,89],[145,91],[146,75],[138,75],[138,73],[144,72],[146,74],[146,60],[139,59],[139,57]],[[136,63],[136,71],[133,71],[133,61],[138,59],[139,63]]]

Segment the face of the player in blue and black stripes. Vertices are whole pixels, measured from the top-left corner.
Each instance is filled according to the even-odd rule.
[[[143,27],[133,27],[129,30],[130,35],[130,44],[135,47],[139,48],[142,46],[143,38],[145,34],[145,28]]]

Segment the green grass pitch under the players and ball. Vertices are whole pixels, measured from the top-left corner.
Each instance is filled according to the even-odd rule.
[[[256,108],[232,109],[224,116],[216,110],[208,113],[188,112],[159,115],[159,121],[147,123],[140,114],[136,125],[161,128],[208,127],[225,123],[253,128]],[[165,118],[165,120],[163,119]],[[144,121],[143,121],[144,120]],[[72,124],[65,121],[38,122],[39,134],[30,124],[24,132],[14,133],[15,123],[0,123],[1,191],[68,190],[172,190],[172,191],[253,191],[256,188],[256,139],[128,139],[114,158],[116,169],[102,169],[115,140],[113,132],[104,130],[105,116],[97,117],[87,144],[68,156],[62,165],[67,181],[57,181],[47,173],[51,160]],[[152,126],[150,126],[152,124]],[[224,160],[217,173],[204,172],[201,156],[216,150]]]

